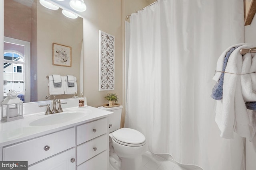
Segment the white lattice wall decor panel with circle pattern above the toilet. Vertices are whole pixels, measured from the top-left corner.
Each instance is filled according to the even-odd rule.
[[[99,41],[99,91],[115,87],[115,37],[100,31]]]

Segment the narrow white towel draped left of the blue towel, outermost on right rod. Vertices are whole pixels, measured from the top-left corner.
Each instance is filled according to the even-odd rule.
[[[234,47],[238,47],[240,45],[245,45],[245,44],[240,43],[240,44],[232,45],[232,46],[228,47],[225,51],[223,51],[223,53],[218,58],[217,65],[216,65],[216,71],[222,71],[223,61],[224,61],[224,58],[225,58],[226,54],[228,53],[228,51],[230,51],[230,49],[232,49]],[[220,80],[220,75],[221,75],[221,72],[216,72],[214,74],[212,80],[215,80],[216,82],[218,82]]]

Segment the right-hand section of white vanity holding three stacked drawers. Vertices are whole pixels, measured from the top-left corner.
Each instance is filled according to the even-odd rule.
[[[76,127],[77,170],[108,169],[107,118]]]

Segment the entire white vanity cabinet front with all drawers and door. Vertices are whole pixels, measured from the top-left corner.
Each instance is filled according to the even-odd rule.
[[[2,147],[2,160],[28,161],[28,170],[108,170],[108,120],[66,129]]]

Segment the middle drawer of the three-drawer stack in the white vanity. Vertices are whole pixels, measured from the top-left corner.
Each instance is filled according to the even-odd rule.
[[[107,149],[107,135],[102,135],[76,147],[77,165]]]

